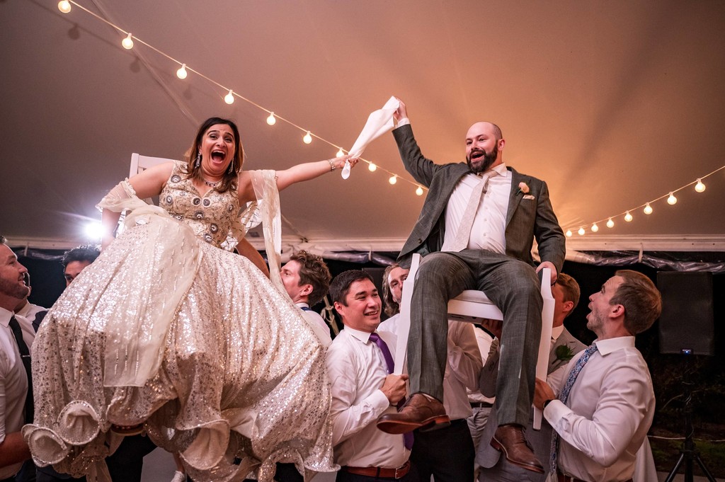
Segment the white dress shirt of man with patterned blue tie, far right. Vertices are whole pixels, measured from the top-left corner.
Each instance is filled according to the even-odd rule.
[[[566,405],[547,404],[544,417],[559,433],[558,468],[585,481],[626,481],[652,425],[655,394],[634,336],[595,341],[597,352],[581,369]],[[558,393],[584,352],[549,376]]]

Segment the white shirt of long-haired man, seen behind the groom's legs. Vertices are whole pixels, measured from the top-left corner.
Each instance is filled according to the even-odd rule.
[[[397,334],[399,314],[378,326],[378,332]],[[448,362],[443,376],[443,406],[451,420],[473,415],[466,388],[477,390],[481,374],[481,352],[471,323],[448,321]]]

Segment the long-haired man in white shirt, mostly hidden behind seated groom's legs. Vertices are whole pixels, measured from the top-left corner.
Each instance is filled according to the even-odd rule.
[[[386,268],[383,276],[384,298],[392,299],[399,307],[402,299],[402,282],[406,270],[399,265]],[[399,308],[398,308],[399,310]],[[386,313],[388,313],[386,306]],[[380,324],[379,332],[390,331],[397,335],[399,312]],[[410,461],[418,470],[418,480],[430,482],[470,481],[473,479],[473,448],[467,419],[473,414],[466,388],[476,389],[481,372],[481,353],[476,333],[471,323],[448,323],[448,359],[443,378],[443,405],[451,424],[434,432],[415,431]]]

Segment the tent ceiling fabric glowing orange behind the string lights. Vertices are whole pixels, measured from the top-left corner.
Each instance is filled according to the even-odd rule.
[[[563,227],[651,201],[725,164],[725,2],[78,0],[109,22],[302,128],[349,149],[391,95],[423,153],[464,157],[492,120],[504,159],[547,180]],[[336,149],[237,99],[56,0],[0,1],[0,232],[22,243],[84,241],[81,225],[128,173],[133,152],[181,158],[206,117],[236,120],[249,169]],[[365,159],[405,173],[391,135]],[[332,249],[397,249],[420,212],[415,186],[365,165],[281,194],[299,236]],[[647,238],[721,244],[725,170],[654,213],[616,218],[573,244]],[[578,235],[574,234],[577,238]],[[689,240],[689,241],[687,241]],[[719,243],[719,244],[718,244]],[[596,248],[595,248],[596,249]]]

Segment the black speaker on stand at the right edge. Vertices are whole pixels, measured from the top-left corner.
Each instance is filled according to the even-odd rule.
[[[657,273],[660,353],[715,354],[712,273]]]

